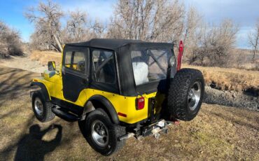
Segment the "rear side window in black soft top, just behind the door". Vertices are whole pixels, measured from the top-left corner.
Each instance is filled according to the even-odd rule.
[[[92,50],[92,62],[93,74],[97,82],[116,82],[116,68],[113,52],[109,50]]]

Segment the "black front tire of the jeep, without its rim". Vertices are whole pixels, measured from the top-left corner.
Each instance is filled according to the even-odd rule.
[[[36,102],[38,102],[38,101],[40,101],[42,104],[42,113],[41,114],[39,112],[37,112],[37,110],[36,110],[37,107],[35,106]],[[51,110],[52,104],[50,102],[45,102],[41,92],[36,91],[36,92],[34,92],[34,94],[32,94],[31,104],[32,104],[32,111],[34,111],[34,115],[42,123],[48,122],[55,118],[55,113],[53,113]]]

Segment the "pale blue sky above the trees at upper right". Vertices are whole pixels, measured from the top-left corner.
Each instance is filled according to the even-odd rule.
[[[195,6],[206,22],[218,24],[224,19],[237,23],[237,47],[248,48],[247,34],[259,18],[259,0],[183,0],[186,6]]]

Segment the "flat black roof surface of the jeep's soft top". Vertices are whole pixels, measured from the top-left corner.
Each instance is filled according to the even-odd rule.
[[[118,50],[118,48],[124,45],[142,44],[153,46],[156,48],[172,48],[172,43],[150,43],[140,40],[129,40],[129,39],[114,39],[114,38],[93,38],[90,41],[85,41],[81,43],[66,43],[66,45],[73,46],[86,46],[92,48],[105,48],[109,50]]]

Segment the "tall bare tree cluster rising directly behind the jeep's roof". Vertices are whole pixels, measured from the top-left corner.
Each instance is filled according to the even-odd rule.
[[[108,28],[111,38],[178,41],[183,33],[184,6],[169,0],[118,0]]]

